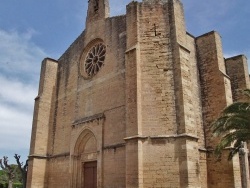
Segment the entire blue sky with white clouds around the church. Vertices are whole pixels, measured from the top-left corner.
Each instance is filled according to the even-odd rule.
[[[110,0],[111,16],[132,0]],[[87,0],[7,0],[0,3],[0,157],[23,161],[29,151],[41,61],[58,59],[83,31]],[[250,58],[250,1],[182,0],[194,36],[220,33],[226,57]]]

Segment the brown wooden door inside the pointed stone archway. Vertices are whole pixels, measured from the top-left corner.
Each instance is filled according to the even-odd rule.
[[[83,164],[83,188],[97,188],[97,162]]]

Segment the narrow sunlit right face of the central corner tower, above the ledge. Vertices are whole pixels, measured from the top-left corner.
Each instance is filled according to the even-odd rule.
[[[187,48],[187,35],[184,20],[183,5],[180,1],[170,1],[169,18],[171,28],[174,83],[177,110],[178,134],[196,135],[194,125],[195,115],[193,114],[192,80],[190,49]],[[195,61],[194,61],[195,62]]]

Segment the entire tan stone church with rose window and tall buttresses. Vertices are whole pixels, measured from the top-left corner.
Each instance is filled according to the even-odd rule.
[[[89,0],[85,30],[42,62],[27,187],[240,188],[239,156],[216,162],[209,126],[242,88],[246,57],[188,33],[180,0],[115,17]]]

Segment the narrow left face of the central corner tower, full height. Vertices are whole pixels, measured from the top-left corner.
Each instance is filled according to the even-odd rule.
[[[127,46],[125,51],[126,70],[126,186],[142,187],[142,135],[140,116],[140,58],[138,46],[138,2],[127,5],[126,34]],[[139,70],[138,70],[139,69]]]

